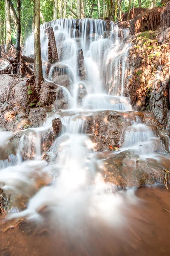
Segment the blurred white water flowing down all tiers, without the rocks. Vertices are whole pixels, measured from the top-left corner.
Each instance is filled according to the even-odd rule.
[[[59,63],[51,65],[49,73],[46,72],[45,66],[48,61],[48,36],[45,29],[48,26],[53,27],[59,55]],[[55,109],[53,113],[49,113],[42,127],[28,128],[23,131],[17,156],[9,155],[8,160],[0,160],[0,183],[3,191],[14,192],[28,198],[26,209],[21,212],[14,210],[8,218],[28,216],[28,220],[43,223],[47,215],[43,215],[40,209],[46,207],[51,224],[54,224],[56,229],[59,227],[65,235],[67,233],[74,238],[73,243],[76,237],[79,238],[78,241],[87,239],[87,244],[90,243],[88,236],[91,232],[89,228],[91,223],[96,229],[96,233],[92,232],[92,234],[96,235],[97,239],[100,237],[99,240],[102,240],[105,236],[102,230],[104,234],[108,230],[108,232],[117,233],[119,239],[122,236],[125,244],[131,243],[124,231],[125,227],[133,222],[129,218],[131,210],[136,205],[140,205],[141,201],[136,197],[135,190],[119,191],[116,185],[105,183],[102,173],[99,172],[99,169],[102,169],[102,163],[94,154],[94,144],[84,133],[85,119],[91,112],[132,111],[129,99],[124,96],[130,44],[123,42],[127,36],[128,29],[120,30],[112,21],[108,24],[104,20],[88,18],[59,19],[42,24],[43,76],[46,80],[53,82],[58,69],[59,76],[65,74],[69,76],[72,82],[69,90],[61,87],[64,96],[68,99],[69,109],[61,111]],[[82,49],[84,55],[85,80],[81,80],[78,74],[77,51],[79,49]],[[26,41],[25,54],[34,54],[34,35]],[[79,101],[80,89],[85,91],[82,101]],[[51,161],[47,163],[41,161],[41,136],[45,131],[48,133],[54,118],[61,119],[62,131],[48,152]],[[156,138],[150,126],[141,124],[140,120],[136,119],[135,112],[134,120],[125,131],[121,150],[137,148],[141,155],[152,155],[153,140],[159,139]],[[0,146],[3,147],[11,134],[8,132],[5,134],[2,131],[0,135],[2,138]],[[24,153],[31,151],[32,160],[23,161],[23,151]],[[42,180],[46,185],[38,192],[37,180]],[[88,227],[85,230],[87,223]],[[98,228],[98,224],[101,227],[99,225]],[[120,233],[119,230],[121,230]],[[133,239],[141,241],[139,234],[135,235],[133,231],[131,232],[132,236],[136,237]],[[97,244],[94,241],[95,248],[99,246],[99,240]],[[103,250],[105,254],[99,253],[98,248],[95,249],[95,253],[91,244],[87,254],[62,252],[60,255],[136,255],[134,254],[136,245],[132,246],[133,253],[128,254],[129,250],[126,252],[119,247],[117,251],[112,246],[112,242],[107,241],[108,245],[106,244],[105,247],[110,246],[115,250],[115,254],[109,250]],[[88,251],[88,248],[86,250]]]

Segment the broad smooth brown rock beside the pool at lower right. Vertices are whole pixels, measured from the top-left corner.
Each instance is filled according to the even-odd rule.
[[[164,157],[140,160],[135,151],[127,150],[109,157],[103,163],[105,181],[122,188],[164,183],[164,169],[170,161]]]

